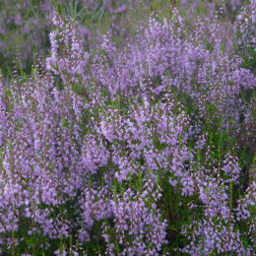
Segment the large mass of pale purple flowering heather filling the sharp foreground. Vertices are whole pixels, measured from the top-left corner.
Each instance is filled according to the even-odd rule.
[[[188,30],[172,7],[93,50],[74,18],[52,25],[45,63],[0,77],[1,253],[253,254],[256,78],[237,32],[217,14]]]

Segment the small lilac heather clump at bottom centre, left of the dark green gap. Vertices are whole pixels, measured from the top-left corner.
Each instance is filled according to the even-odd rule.
[[[155,184],[148,179],[137,194],[130,188],[121,195],[114,194],[111,202],[114,225],[103,224],[107,254],[158,254],[161,244],[166,242],[166,221],[160,220],[160,211],[156,209],[161,194]]]

